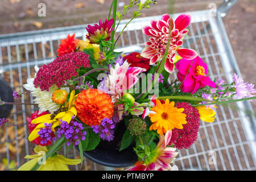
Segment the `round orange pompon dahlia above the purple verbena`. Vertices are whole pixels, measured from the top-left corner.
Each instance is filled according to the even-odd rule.
[[[104,118],[111,118],[114,104],[108,94],[98,89],[83,90],[75,100],[77,116],[86,125],[100,125]]]

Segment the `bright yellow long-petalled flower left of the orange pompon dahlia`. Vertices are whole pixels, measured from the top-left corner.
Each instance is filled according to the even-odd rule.
[[[55,132],[55,127],[59,126],[61,123],[61,119],[65,122],[70,122],[72,117],[76,117],[77,110],[75,105],[75,90],[72,90],[69,101],[65,103],[64,107],[61,107],[59,109],[59,113],[53,113],[53,114],[45,114],[38,118],[35,118],[31,121],[32,124],[39,124],[35,127],[35,129],[31,132],[31,134],[28,136],[28,140],[30,142],[36,138],[39,137],[38,131],[46,127],[44,123],[52,123],[51,130]]]

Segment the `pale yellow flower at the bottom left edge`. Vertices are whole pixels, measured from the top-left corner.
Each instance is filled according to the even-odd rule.
[[[69,171],[68,165],[76,165],[81,163],[81,159],[68,159],[63,155],[52,155],[45,162],[43,162],[43,155],[48,151],[46,147],[36,146],[34,151],[35,155],[26,155],[25,159],[31,159],[27,163],[24,163],[18,168],[18,171],[30,171],[38,162],[42,162],[42,165],[38,168],[38,171]]]

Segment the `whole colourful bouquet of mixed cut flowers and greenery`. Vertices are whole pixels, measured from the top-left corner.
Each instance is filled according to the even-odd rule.
[[[189,148],[195,142],[200,122],[213,122],[218,104],[255,99],[253,84],[236,74],[232,83],[211,80],[196,50],[181,47],[191,23],[189,14],[175,20],[164,14],[143,27],[148,42],[141,52],[115,52],[127,24],[154,4],[131,0],[121,13],[114,0],[113,19],[110,10],[108,19],[89,25],[86,40],[68,35],[61,40],[55,60],[35,67],[34,78],[23,86],[39,106],[27,117],[28,140],[37,145],[37,154],[25,156],[31,160],[19,170],[68,170],[67,164],[82,163],[84,151],[94,150],[101,140],[111,142],[120,123],[125,132],[119,151],[133,146],[138,156],[129,170],[177,170],[171,166],[176,148]],[[138,10],[114,39],[119,23],[135,6]],[[175,70],[177,78],[168,81]],[[11,124],[1,118],[0,125]],[[57,154],[65,143],[78,146],[81,159]],[[37,163],[40,151],[46,154],[46,164]]]

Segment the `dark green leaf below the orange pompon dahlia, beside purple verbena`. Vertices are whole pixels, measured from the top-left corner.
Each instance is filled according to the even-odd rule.
[[[93,129],[86,129],[85,140],[81,141],[82,151],[94,150],[100,143],[100,134],[93,132]]]

